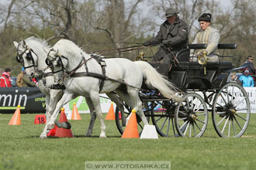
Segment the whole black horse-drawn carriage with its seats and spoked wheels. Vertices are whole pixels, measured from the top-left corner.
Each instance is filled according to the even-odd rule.
[[[238,138],[247,128],[251,114],[247,92],[240,84],[230,81],[234,66],[223,62],[224,50],[235,49],[237,44],[219,44],[218,49],[223,49],[223,54],[217,63],[207,63],[206,55],[199,58],[199,62],[189,62],[190,49],[204,48],[206,44],[192,44],[189,49],[179,51],[176,55],[178,65],[173,65],[170,72],[164,69],[164,63],[151,63],[182,90],[180,95],[183,96],[181,102],[175,102],[162,97],[157,90],[142,87],[140,99],[144,104],[144,114],[148,121],[151,117],[161,136],[201,137],[206,131],[209,112],[220,137]],[[126,104],[124,106],[126,113],[123,117],[127,117],[131,109]],[[142,130],[140,117],[137,117],[137,122]],[[118,108],[116,125],[123,134],[125,127]]]

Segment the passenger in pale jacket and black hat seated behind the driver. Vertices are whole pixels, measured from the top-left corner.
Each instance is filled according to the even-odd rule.
[[[209,58],[209,62],[218,61],[218,44],[220,40],[220,32],[217,29],[213,29],[210,26],[212,15],[210,13],[203,13],[199,16],[200,31],[196,34],[193,44],[207,44],[206,49],[192,49],[190,61],[197,61],[197,56],[202,55],[202,51],[206,50],[206,55]]]

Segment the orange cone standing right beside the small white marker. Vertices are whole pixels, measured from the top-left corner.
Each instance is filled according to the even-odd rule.
[[[122,138],[140,138],[137,127],[136,110],[134,109],[132,110],[132,115],[130,116],[128,124],[123,131]]]

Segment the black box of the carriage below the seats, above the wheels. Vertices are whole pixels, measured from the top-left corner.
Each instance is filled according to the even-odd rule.
[[[232,69],[228,62],[209,63],[204,74],[204,68],[198,62],[181,62],[172,68],[168,78],[181,90],[216,90],[227,83]]]

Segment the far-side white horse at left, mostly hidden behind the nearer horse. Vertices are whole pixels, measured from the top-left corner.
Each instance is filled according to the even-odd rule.
[[[19,43],[13,43],[17,49],[17,61],[19,63],[22,63],[22,66],[25,68],[28,76],[31,78],[36,76],[44,76],[41,77],[43,79],[40,79],[38,81],[38,87],[40,88],[40,91],[46,96],[45,114],[48,123],[50,121],[50,117],[54,113],[57,102],[61,99],[61,96],[63,95],[62,90],[51,90],[47,87],[47,85],[54,83],[54,76],[51,73],[50,69],[47,68],[47,64],[45,63],[47,53],[45,53],[43,48],[50,49],[50,47],[47,45],[46,41],[43,41],[42,39],[37,39],[33,36],[24,39]],[[47,131],[47,123],[45,125],[45,128],[43,129],[42,134],[40,134],[40,138],[47,138],[47,133],[49,131]]]

